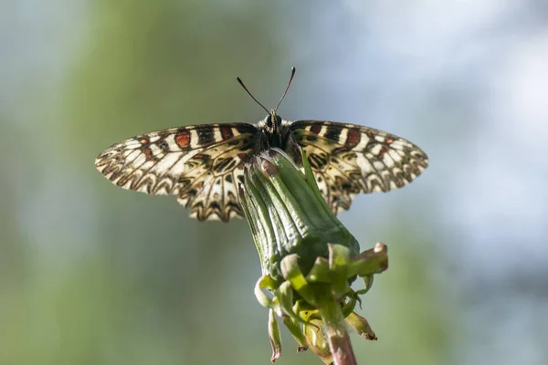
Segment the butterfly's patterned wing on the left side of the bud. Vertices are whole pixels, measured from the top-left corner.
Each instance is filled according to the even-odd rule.
[[[177,195],[198,220],[227,222],[243,215],[237,182],[256,133],[245,123],[158,130],[112,145],[95,165],[124,189]]]

